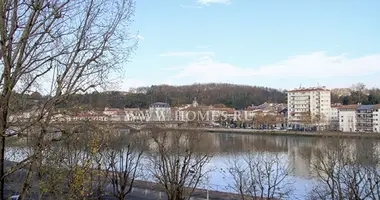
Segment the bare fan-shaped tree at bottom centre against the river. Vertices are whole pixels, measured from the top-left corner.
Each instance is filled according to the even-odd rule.
[[[151,130],[149,168],[169,200],[190,199],[197,187],[207,181],[206,169],[212,155],[202,133],[161,129]]]

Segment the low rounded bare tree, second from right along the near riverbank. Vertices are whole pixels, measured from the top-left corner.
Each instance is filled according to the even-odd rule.
[[[227,166],[222,170],[227,179],[233,180],[229,187],[243,200],[284,199],[293,192],[289,177],[292,169],[278,155],[246,154],[231,159]]]

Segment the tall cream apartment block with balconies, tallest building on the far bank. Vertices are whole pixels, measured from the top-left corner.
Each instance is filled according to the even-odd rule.
[[[326,87],[298,88],[288,91],[288,124],[327,125],[331,108],[331,91]],[[313,122],[314,121],[314,122]]]

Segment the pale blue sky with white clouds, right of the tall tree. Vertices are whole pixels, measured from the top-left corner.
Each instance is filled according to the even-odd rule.
[[[229,82],[380,87],[379,0],[138,0],[120,90]]]

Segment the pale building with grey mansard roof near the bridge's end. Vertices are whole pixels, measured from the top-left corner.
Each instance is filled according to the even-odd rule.
[[[152,103],[149,107],[149,118],[147,121],[170,121],[171,108],[170,105],[163,102]]]

